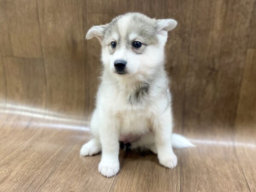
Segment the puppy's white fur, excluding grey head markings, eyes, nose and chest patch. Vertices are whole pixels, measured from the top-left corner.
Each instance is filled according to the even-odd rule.
[[[145,47],[143,54],[136,54],[124,42],[130,20],[131,15],[126,15],[117,23],[119,38],[123,40],[119,49],[110,54],[109,45],[102,45],[104,71],[90,125],[94,138],[80,151],[82,156],[102,151],[99,172],[106,177],[112,177],[119,171],[119,138],[122,135],[139,136],[140,139],[131,143],[131,147],[150,149],[157,154],[160,164],[168,168],[177,165],[172,145],[177,148],[193,146],[185,137],[172,134],[171,94],[163,66],[167,31],[173,29],[177,22],[156,20],[158,43]],[[87,38],[92,38],[93,33],[97,38],[102,37],[101,32],[102,27],[93,27],[88,31]],[[113,34],[112,37],[117,38],[118,34]],[[132,32],[130,38],[140,39],[136,35],[137,32]],[[127,61],[127,74],[115,73],[113,63],[118,59]],[[129,98],[141,82],[150,84],[147,100],[138,104],[129,103]]]

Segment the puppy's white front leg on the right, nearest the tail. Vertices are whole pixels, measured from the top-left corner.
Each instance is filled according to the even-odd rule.
[[[154,119],[153,128],[159,163],[172,169],[177,165],[177,157],[172,150],[172,115],[170,109]]]

